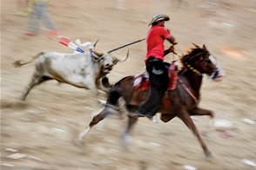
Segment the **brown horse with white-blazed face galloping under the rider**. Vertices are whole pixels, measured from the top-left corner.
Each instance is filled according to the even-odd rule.
[[[209,51],[203,45],[200,48],[195,45],[191,51],[185,56],[180,56],[183,68],[180,69],[176,88],[168,91],[158,113],[161,114],[161,120],[164,122],[171,121],[174,117],[178,116],[187,127],[192,130],[192,133],[198,138],[201,147],[207,157],[212,156],[211,152],[202,140],[199,130],[193,123],[191,115],[209,115],[213,117],[212,111],[199,108],[200,87],[202,84],[203,74],[209,75],[213,81],[221,81],[224,72],[220,68],[216,59],[211,56]],[[134,116],[134,112],[138,109],[141,101],[145,101],[149,91],[139,91],[134,88],[134,76],[126,76],[120,81],[116,82],[108,95],[107,104],[104,109],[96,116],[93,117],[89,124],[78,136],[77,142],[81,144],[84,135],[96,125],[99,121],[104,120],[108,114],[120,113],[118,110],[118,99],[122,97],[125,101],[125,106],[130,114],[127,114],[129,121],[123,137],[131,131],[131,127],[138,121],[138,117]],[[166,109],[166,101],[168,105]],[[163,102],[164,103],[164,102]]]

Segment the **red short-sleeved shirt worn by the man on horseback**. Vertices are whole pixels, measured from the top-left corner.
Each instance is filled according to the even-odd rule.
[[[146,37],[147,53],[145,57],[145,62],[149,56],[155,56],[164,60],[165,47],[164,42],[165,38],[170,35],[170,32],[161,26],[152,26],[152,29],[149,30]]]

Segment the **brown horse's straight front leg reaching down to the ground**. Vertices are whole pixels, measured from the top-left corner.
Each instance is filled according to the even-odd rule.
[[[198,138],[201,147],[204,150],[205,156],[206,157],[211,157],[212,153],[208,150],[208,148],[205,145],[205,142],[203,141],[203,139],[201,138],[201,135],[199,134],[199,130],[197,129],[197,127],[195,126],[194,122],[192,121],[190,114],[188,114],[187,112],[183,112],[178,114],[178,117],[185,123],[185,125],[190,128],[192,130],[192,133]]]

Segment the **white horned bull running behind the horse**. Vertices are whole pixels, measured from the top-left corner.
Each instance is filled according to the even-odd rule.
[[[100,83],[101,78],[109,74],[114,65],[120,61],[124,62],[129,56],[128,51],[125,59],[120,60],[111,54],[114,50],[99,53],[93,49],[91,52],[72,54],[40,52],[29,62],[14,62],[15,67],[21,67],[37,59],[36,70],[30,83],[19,97],[20,100],[24,101],[30,90],[36,85],[49,80],[64,82],[77,88],[90,89],[93,95],[98,98],[99,90],[105,91]],[[102,102],[99,99],[98,101]]]

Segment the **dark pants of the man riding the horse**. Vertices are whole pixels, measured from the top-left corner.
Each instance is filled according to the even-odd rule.
[[[145,65],[150,76],[151,87],[147,100],[140,103],[138,112],[153,116],[157,114],[162,98],[168,88],[169,77],[165,63],[162,60],[151,56]]]

